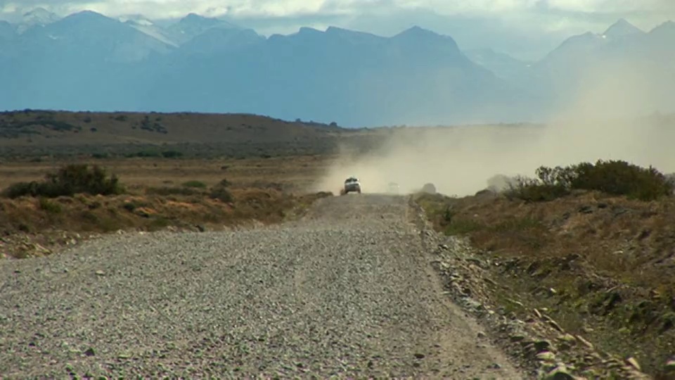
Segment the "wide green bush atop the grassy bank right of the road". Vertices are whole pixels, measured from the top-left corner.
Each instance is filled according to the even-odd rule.
[[[640,167],[622,160],[598,160],[567,167],[541,166],[536,179],[516,177],[506,194],[525,201],[551,201],[572,190],[602,191],[641,201],[671,196],[675,182],[654,167]]]

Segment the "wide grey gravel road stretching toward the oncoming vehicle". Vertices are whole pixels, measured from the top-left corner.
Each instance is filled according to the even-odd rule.
[[[274,227],[5,260],[0,373],[527,378],[444,295],[412,213],[335,196]]]

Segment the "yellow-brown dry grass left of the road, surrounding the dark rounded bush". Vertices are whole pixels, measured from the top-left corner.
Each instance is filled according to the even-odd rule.
[[[47,172],[69,163],[72,160],[2,165],[2,187],[40,181]],[[0,199],[0,232],[5,236],[0,248],[5,255],[49,253],[32,249],[35,247],[26,242],[45,241],[44,236],[60,232],[151,231],[169,226],[219,229],[251,222],[276,223],[301,215],[316,198],[330,195],[307,190],[324,165],[316,156],[283,160],[129,158],[77,163],[102,165],[120,177],[127,191],[118,196]],[[211,197],[212,188],[223,179],[230,183],[231,202]]]

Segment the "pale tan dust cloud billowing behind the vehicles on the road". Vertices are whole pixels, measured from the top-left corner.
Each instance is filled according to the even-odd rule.
[[[541,165],[626,160],[675,172],[675,118],[654,117],[674,101],[669,85],[647,67],[598,65],[542,125],[488,125],[380,129],[383,144],[357,155],[341,147],[316,183],[337,193],[356,176],[364,193],[418,191],[428,182],[446,195],[466,196],[487,187],[494,175],[534,177]],[[670,99],[668,99],[670,98]],[[673,104],[673,103],[671,103]]]

